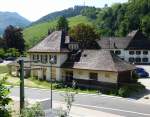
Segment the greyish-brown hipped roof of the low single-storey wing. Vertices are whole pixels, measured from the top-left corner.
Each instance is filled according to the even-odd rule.
[[[62,68],[88,69],[101,71],[127,71],[134,66],[121,60],[107,50],[84,50],[75,60],[68,59]]]

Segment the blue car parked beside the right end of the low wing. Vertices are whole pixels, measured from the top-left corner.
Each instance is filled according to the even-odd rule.
[[[137,67],[137,68],[135,69],[135,73],[136,73],[139,77],[144,77],[144,78],[149,77],[149,73],[146,72],[143,68]]]

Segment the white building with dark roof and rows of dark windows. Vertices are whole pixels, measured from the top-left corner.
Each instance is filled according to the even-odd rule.
[[[98,44],[130,63],[150,64],[150,39],[140,31],[133,31],[122,38],[101,38]]]

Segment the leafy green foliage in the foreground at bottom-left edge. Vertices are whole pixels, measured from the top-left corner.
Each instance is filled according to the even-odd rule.
[[[8,104],[11,99],[8,97],[10,93],[9,89],[4,85],[6,81],[6,77],[0,80],[0,116],[1,117],[11,117],[10,110],[8,108]]]

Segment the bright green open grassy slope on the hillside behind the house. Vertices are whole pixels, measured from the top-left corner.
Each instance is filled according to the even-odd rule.
[[[84,16],[75,16],[69,18],[68,21],[70,27],[75,26],[79,23],[91,24],[87,17]],[[48,29],[56,26],[56,22],[57,21],[50,21],[26,28],[23,31],[23,35],[29,48],[38,43],[41,39],[43,39],[47,35]]]

